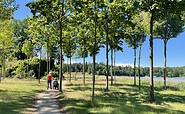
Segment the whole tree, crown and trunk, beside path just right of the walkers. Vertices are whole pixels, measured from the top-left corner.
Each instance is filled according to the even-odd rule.
[[[36,13],[40,13],[42,16],[47,18],[47,22],[51,23],[54,22],[54,26],[57,26],[59,32],[56,32],[56,36],[59,36],[58,44],[60,50],[60,91],[62,92],[62,61],[63,61],[63,54],[62,54],[62,37],[63,37],[63,19],[65,14],[67,15],[67,7],[70,1],[45,1],[40,0],[37,2],[30,2],[26,6],[31,9],[31,12],[35,16]]]

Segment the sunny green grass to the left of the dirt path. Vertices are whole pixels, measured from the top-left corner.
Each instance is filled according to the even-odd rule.
[[[0,113],[22,113],[32,107],[35,94],[46,88],[37,80],[5,79],[0,83]]]

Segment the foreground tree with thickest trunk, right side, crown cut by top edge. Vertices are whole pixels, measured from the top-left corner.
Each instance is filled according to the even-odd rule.
[[[153,24],[163,18],[166,13],[176,13],[176,8],[183,8],[182,0],[140,0],[139,7],[142,11],[150,13],[150,100],[154,101],[154,82],[153,82]]]

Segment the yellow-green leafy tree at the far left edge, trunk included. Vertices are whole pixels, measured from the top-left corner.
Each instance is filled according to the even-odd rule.
[[[11,19],[19,6],[15,0],[0,1],[0,49],[3,52],[3,79],[5,78],[5,54],[11,47],[14,39],[12,38]]]

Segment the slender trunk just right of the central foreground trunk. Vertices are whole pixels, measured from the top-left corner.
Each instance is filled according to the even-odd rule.
[[[106,23],[106,91],[109,90],[108,23]]]

